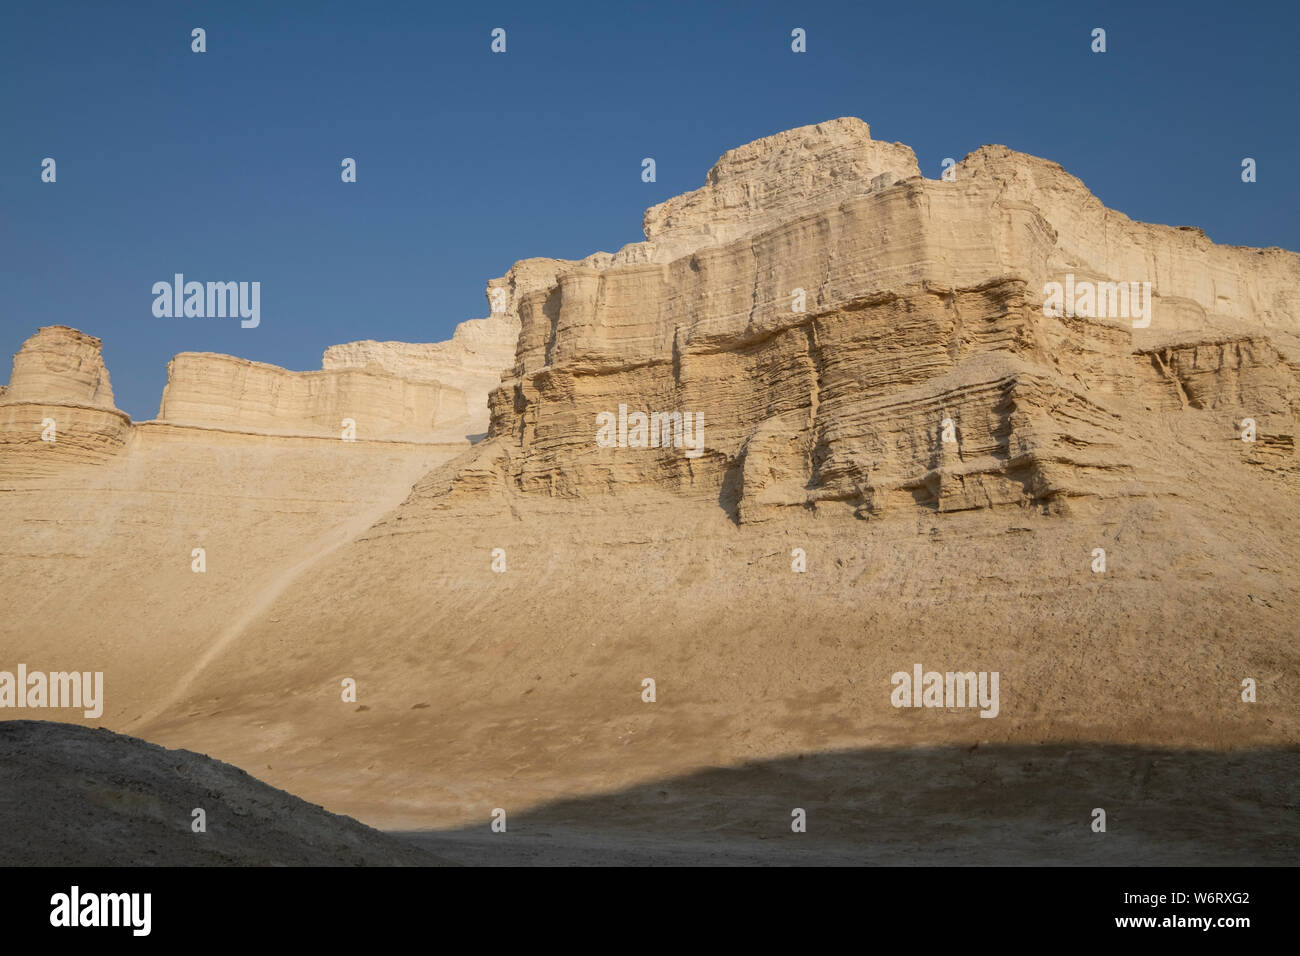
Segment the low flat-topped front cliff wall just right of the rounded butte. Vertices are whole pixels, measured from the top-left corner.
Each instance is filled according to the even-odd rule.
[[[228,431],[355,440],[463,441],[465,395],[436,381],[378,368],[290,372],[214,352],[181,352],[168,364],[159,420]]]

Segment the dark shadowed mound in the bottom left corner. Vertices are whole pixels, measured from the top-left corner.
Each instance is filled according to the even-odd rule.
[[[207,832],[191,830],[192,812]],[[48,721],[0,722],[0,865],[445,862],[188,750]]]

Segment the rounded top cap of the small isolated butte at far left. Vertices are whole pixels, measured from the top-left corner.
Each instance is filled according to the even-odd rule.
[[[66,325],[46,325],[13,356],[0,402],[49,402],[113,408],[103,342]]]

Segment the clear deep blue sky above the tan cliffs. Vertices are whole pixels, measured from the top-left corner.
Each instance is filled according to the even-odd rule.
[[[837,116],[930,177],[1004,143],[1135,219],[1300,250],[1297,35],[1295,0],[3,0],[0,378],[73,325],[148,419],[179,351],[308,369],[338,342],[438,341],[516,259],[638,241],[725,150]],[[260,281],[261,325],[155,319],[176,272]]]

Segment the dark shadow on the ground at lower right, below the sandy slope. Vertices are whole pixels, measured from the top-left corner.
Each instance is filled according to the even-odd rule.
[[[850,750],[506,809],[403,835],[467,865],[1295,865],[1300,752]]]

